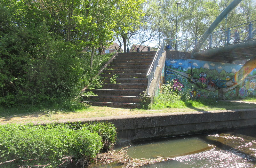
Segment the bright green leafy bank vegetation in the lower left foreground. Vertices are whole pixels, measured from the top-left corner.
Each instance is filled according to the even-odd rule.
[[[110,123],[7,124],[0,134],[0,166],[6,168],[83,167],[116,143]]]

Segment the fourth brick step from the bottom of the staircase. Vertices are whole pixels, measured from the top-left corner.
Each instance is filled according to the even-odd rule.
[[[148,84],[101,84],[101,89],[144,89],[146,90]]]

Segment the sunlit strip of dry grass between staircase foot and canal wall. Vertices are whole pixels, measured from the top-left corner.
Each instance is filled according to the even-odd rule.
[[[247,100],[250,100],[247,101]],[[60,120],[77,119],[105,116],[127,116],[137,114],[171,113],[171,112],[189,112],[189,111],[210,111],[210,110],[233,110],[256,108],[255,98],[245,98],[243,101],[217,101],[216,100],[187,100],[176,101],[167,104],[158,104],[151,106],[150,109],[126,109],[111,107],[96,107],[85,105],[84,108],[77,110],[67,110],[58,105],[51,106],[29,106],[28,108],[0,108],[0,123],[49,123]],[[83,104],[82,104],[83,105]],[[51,116],[48,112],[54,111]]]

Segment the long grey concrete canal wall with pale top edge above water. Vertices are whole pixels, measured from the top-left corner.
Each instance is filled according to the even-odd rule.
[[[76,121],[111,122],[118,129],[120,142],[127,142],[255,126],[256,108],[79,118],[55,122]]]

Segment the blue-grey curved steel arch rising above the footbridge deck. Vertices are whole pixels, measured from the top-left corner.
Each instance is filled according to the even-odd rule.
[[[227,16],[227,14],[232,11],[242,0],[233,0],[221,13],[220,15],[212,22],[210,27],[204,32],[204,35],[200,38],[200,40],[197,42],[195,48],[191,52],[191,56],[193,57],[193,54],[198,52],[205,42],[205,40],[210,36],[210,34],[213,32],[213,30],[220,24],[221,20]]]

